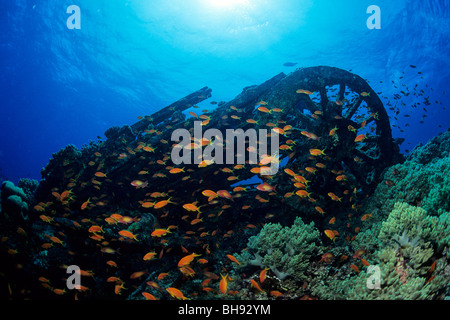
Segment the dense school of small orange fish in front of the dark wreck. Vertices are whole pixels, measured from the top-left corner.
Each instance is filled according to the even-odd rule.
[[[297,93],[314,94],[305,89]],[[33,289],[35,293],[7,278],[9,294],[221,299],[239,297],[238,290],[229,289],[239,282],[268,298],[292,298],[282,288],[265,286],[269,268],[249,267],[247,274],[238,273],[233,265],[240,261],[233,253],[244,249],[248,238],[265,223],[292,222],[295,215],[288,217],[292,212],[315,221],[325,251],[337,243],[351,242],[361,224],[370,221],[370,212],[358,210],[366,194],[334,161],[339,148],[328,145],[327,139],[347,130],[354,144],[364,144],[375,131],[374,126],[368,127],[376,124],[377,114],[365,110],[366,116],[357,115],[360,126],[356,128],[340,126],[336,116],[336,122],[324,123],[321,132],[308,132],[290,125],[283,120],[282,109],[264,101],[255,106],[255,119],[245,119],[242,110],[233,106],[215,118],[212,112],[203,111],[189,114],[205,128],[228,121],[231,126],[273,129],[280,135],[280,155],[266,155],[256,165],[203,161],[173,166],[169,141],[174,128],[164,123],[146,129],[134,141],[125,136],[114,144],[99,140],[83,157],[53,163],[52,177],[56,178],[43,184],[30,221],[1,238],[15,272],[23,269],[25,273],[28,268],[23,267],[30,259],[36,265],[43,261],[28,273],[39,289]],[[321,116],[319,109],[311,114],[316,121]],[[185,121],[184,126],[192,130],[192,121]],[[204,148],[211,142],[192,138],[186,149]],[[262,175],[268,164],[298,157],[300,145],[308,150],[302,161],[288,161],[277,174]],[[354,161],[364,166],[362,159],[355,157]],[[254,175],[261,182],[233,186]],[[357,250],[339,260],[348,260],[349,267],[360,272],[369,265],[364,254],[365,250]],[[334,259],[326,252],[316,261],[327,264]],[[65,270],[71,264],[81,268],[82,285],[76,290],[65,287]]]

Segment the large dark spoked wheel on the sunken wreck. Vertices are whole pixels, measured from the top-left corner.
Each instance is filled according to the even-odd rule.
[[[320,137],[305,143],[303,151],[314,145],[326,148],[334,169],[354,175],[365,191],[374,188],[372,182],[392,163],[395,148],[386,110],[376,92],[356,74],[327,66],[299,69],[260,99],[284,110],[287,122],[297,128],[297,137],[302,131]],[[362,134],[363,140],[355,141]]]

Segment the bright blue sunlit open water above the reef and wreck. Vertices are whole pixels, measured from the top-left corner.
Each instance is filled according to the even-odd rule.
[[[70,5],[81,29],[67,27]],[[370,5],[381,29],[367,28]],[[228,101],[298,67],[367,79],[395,106],[404,152],[450,123],[450,1],[4,0],[0,30],[1,179],[39,179],[60,148],[203,86]]]

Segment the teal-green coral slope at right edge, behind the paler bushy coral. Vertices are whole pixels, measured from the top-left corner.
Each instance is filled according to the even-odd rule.
[[[371,224],[361,226],[361,236],[356,243],[362,247],[378,245],[378,239],[363,243],[364,233],[374,225],[381,226],[398,202],[421,207],[427,215],[439,216],[450,211],[450,131],[416,147],[404,163],[386,169],[382,182],[373,195],[365,200],[361,212],[372,214]],[[369,235],[369,234],[365,234]],[[368,238],[368,237],[366,237]]]

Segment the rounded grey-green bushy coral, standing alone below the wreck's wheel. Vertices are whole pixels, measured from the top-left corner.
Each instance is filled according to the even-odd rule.
[[[287,276],[302,280],[310,257],[319,249],[319,236],[314,223],[305,224],[300,217],[291,227],[268,223],[249,239],[248,249],[237,256],[243,264],[270,267],[281,280]]]

